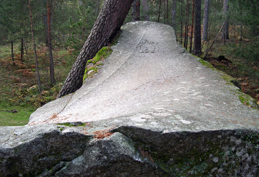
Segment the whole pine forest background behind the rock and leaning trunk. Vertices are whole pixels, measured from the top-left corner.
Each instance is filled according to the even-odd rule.
[[[27,124],[57,97],[104,1],[0,1],[0,126]],[[124,23],[136,20],[174,27],[187,51],[259,103],[258,0],[135,0]]]

